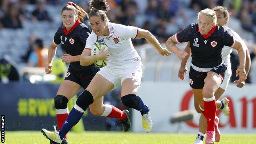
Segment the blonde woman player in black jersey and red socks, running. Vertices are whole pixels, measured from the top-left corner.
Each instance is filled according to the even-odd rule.
[[[236,75],[239,81],[247,79],[245,72],[245,50],[239,41],[225,27],[216,25],[215,11],[204,9],[198,13],[198,23],[190,24],[186,29],[173,35],[166,41],[166,46],[180,59],[187,53],[175,46],[176,43],[190,42],[192,62],[190,67],[190,87],[197,99],[203,115],[207,119],[206,144],[215,142],[216,101],[214,93],[221,85],[226,64],[222,60],[222,48],[229,46],[238,50],[240,66]]]

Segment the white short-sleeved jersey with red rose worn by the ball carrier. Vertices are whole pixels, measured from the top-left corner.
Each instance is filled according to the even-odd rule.
[[[107,44],[110,50],[107,66],[124,66],[131,63],[139,63],[142,65],[141,58],[134,49],[131,41],[131,38],[137,36],[137,27],[110,22],[108,22],[107,25],[110,35],[97,37],[94,32],[91,32],[87,38],[85,48],[91,49],[95,41],[102,40]]]

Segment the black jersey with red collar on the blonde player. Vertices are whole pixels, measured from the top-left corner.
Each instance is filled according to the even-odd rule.
[[[210,35],[210,36],[209,36]],[[233,36],[224,27],[214,26],[208,35],[201,35],[198,23],[192,23],[175,35],[179,43],[190,41],[192,64],[199,68],[213,68],[222,63],[222,48],[232,47]]]

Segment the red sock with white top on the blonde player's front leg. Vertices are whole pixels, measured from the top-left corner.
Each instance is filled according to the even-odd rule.
[[[213,98],[203,98],[203,114],[207,120],[207,130],[214,131],[214,122],[216,116],[216,101]]]

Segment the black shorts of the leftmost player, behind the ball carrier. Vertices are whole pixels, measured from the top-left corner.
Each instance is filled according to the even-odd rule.
[[[75,71],[69,68],[69,71],[66,73],[65,80],[71,80],[86,89],[94,75],[96,75],[99,70],[100,69],[98,67],[86,71]]]

